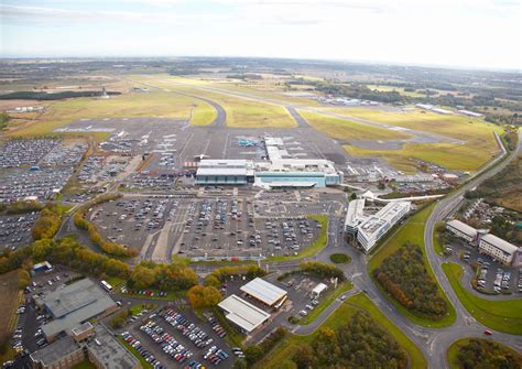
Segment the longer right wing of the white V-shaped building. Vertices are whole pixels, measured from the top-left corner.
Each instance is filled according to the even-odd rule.
[[[368,252],[399,220],[410,211],[410,202],[389,203],[362,221],[357,231],[357,241]]]

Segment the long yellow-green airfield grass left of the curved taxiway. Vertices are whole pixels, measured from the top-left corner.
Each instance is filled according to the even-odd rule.
[[[52,104],[37,123],[14,130],[13,135],[39,135],[83,118],[155,117],[188,119],[195,126],[209,124],[216,110],[202,100],[165,91],[137,93],[110,99],[78,98]]]

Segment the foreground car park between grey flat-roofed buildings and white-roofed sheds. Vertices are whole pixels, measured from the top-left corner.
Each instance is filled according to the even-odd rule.
[[[127,327],[122,338],[154,368],[232,366],[225,332],[211,316],[200,321],[189,311],[164,306]]]

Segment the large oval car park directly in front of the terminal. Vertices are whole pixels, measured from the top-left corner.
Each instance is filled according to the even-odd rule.
[[[315,213],[315,210],[314,210]],[[126,196],[95,207],[88,219],[109,240],[137,247],[142,257],[290,256],[320,232],[315,219],[257,218],[250,197],[159,198]]]

